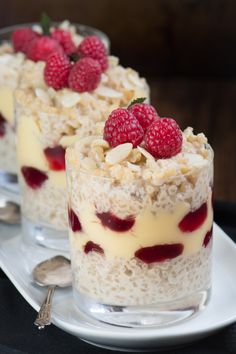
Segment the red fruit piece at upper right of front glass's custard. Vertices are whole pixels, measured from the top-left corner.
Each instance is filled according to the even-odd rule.
[[[195,211],[190,211],[179,223],[179,228],[183,232],[197,230],[207,218],[207,203],[204,203]]]

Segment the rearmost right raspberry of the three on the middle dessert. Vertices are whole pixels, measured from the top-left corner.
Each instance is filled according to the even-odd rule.
[[[81,57],[95,59],[101,65],[102,71],[108,68],[107,50],[101,39],[97,36],[86,37],[78,47],[78,54]]]

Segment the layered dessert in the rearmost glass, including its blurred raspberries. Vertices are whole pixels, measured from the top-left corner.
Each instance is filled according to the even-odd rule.
[[[47,23],[46,23],[47,22]],[[77,33],[76,27],[68,21],[51,26],[49,19],[42,19],[41,25],[32,28],[13,26],[0,30],[0,170],[11,174],[17,173],[15,131],[14,131],[14,104],[13,93],[17,88],[45,87],[43,80],[38,81],[38,67],[40,61],[61,47],[70,53],[81,42],[83,37]],[[85,30],[92,32],[85,26]],[[44,34],[50,32],[50,39]],[[105,38],[105,37],[104,37]],[[46,47],[46,54],[38,53],[35,56],[38,40]],[[38,65],[36,64],[38,61]],[[27,73],[21,80],[22,72]],[[32,81],[33,82],[32,82]]]

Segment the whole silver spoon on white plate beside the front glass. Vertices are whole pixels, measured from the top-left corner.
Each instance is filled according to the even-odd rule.
[[[51,324],[52,297],[56,286],[64,288],[71,285],[70,261],[63,256],[43,261],[33,269],[33,278],[38,285],[48,287],[47,296],[34,322],[39,329],[43,329]]]

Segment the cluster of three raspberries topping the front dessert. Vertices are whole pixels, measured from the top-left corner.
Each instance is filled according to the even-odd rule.
[[[132,143],[143,145],[156,159],[177,155],[182,148],[182,132],[172,118],[160,118],[153,106],[143,99],[128,108],[117,108],[109,115],[104,128],[104,139],[111,147]]]

